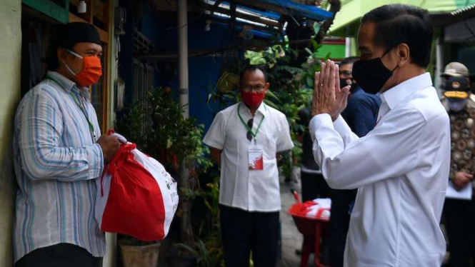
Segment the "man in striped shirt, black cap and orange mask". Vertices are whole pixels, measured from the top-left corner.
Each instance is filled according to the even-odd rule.
[[[94,179],[120,146],[98,138],[89,101],[88,86],[101,76],[101,40],[91,24],[65,24],[49,51],[46,79],[15,116],[15,266],[99,267],[106,241],[94,219]]]

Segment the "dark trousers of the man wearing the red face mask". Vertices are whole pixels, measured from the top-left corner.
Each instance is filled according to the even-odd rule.
[[[276,267],[279,239],[279,211],[249,212],[219,206],[221,237],[226,267]]]

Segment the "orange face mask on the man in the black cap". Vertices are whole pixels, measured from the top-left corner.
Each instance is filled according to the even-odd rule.
[[[78,82],[79,86],[90,86],[92,84],[96,84],[99,81],[99,78],[102,76],[102,66],[101,66],[101,59],[97,56],[80,56],[76,54],[74,51],[68,50],[74,56],[79,57],[83,61],[83,67],[79,74],[75,74],[72,69],[69,68],[66,62],[64,65],[66,69],[71,72],[76,77],[76,81]]]

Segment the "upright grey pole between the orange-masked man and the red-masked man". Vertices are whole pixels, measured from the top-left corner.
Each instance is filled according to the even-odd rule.
[[[178,45],[180,104],[184,105],[184,118],[189,117],[188,81],[188,6],[186,0],[178,0]]]

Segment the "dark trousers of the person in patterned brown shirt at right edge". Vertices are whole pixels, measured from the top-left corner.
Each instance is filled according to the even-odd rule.
[[[450,266],[475,266],[475,201],[446,198],[444,214]],[[471,261],[474,265],[470,264]]]

